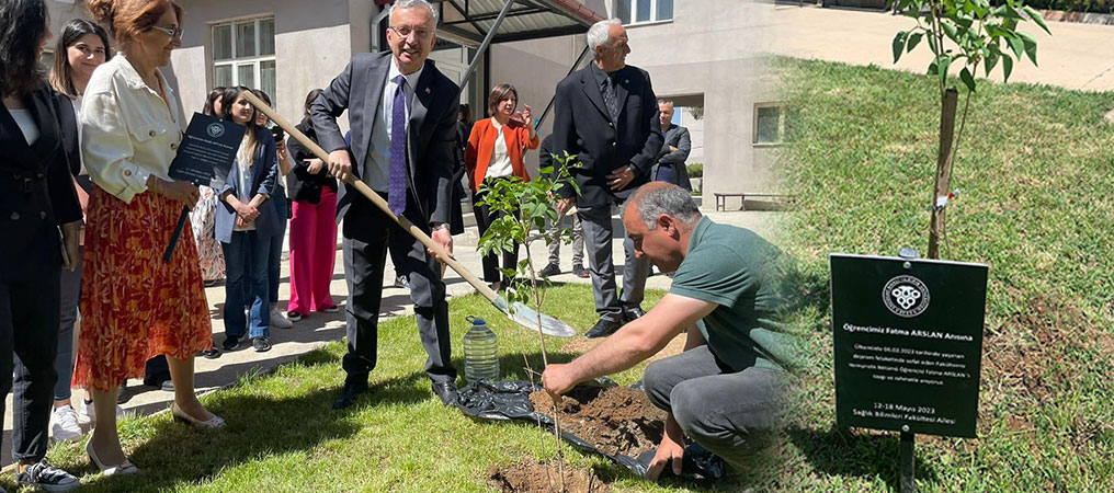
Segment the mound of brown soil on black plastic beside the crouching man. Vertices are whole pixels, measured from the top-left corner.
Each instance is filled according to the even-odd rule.
[[[530,403],[536,413],[553,417],[553,401],[545,391],[530,394]],[[665,412],[644,392],[628,387],[576,387],[564,396],[559,412],[563,432],[612,456],[653,451],[665,433]]]

